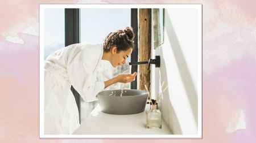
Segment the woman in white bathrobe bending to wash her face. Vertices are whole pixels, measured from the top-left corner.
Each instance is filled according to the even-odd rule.
[[[71,85],[86,102],[115,83],[129,83],[137,73],[119,74],[107,81],[96,81],[100,60],[113,67],[125,64],[134,47],[133,29],[126,27],[106,36],[104,44],[73,44],[55,51],[44,63],[44,133],[71,134],[79,127],[79,112]]]

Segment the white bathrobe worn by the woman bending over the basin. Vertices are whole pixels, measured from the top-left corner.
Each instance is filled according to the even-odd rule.
[[[79,111],[71,85],[86,102],[95,101],[104,89],[96,81],[102,44],[73,44],[57,50],[44,63],[44,133],[71,134],[79,127]]]

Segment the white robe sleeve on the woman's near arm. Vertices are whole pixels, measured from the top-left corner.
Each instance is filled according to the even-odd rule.
[[[96,74],[90,72],[86,63],[73,63],[67,67],[69,81],[85,102],[96,101],[97,94],[105,88],[104,81],[96,81]]]

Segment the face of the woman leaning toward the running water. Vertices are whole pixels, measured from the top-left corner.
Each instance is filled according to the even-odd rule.
[[[112,64],[113,67],[118,67],[121,64],[125,64],[126,59],[131,55],[131,52],[133,49],[129,48],[126,51],[119,51],[117,53],[117,47],[112,47],[112,59],[110,63]]]

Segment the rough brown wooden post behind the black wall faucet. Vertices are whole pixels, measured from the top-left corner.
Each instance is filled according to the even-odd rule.
[[[139,57],[138,61],[148,61],[151,55],[151,9],[139,9]],[[150,91],[150,69],[147,64],[138,66],[138,89]]]

